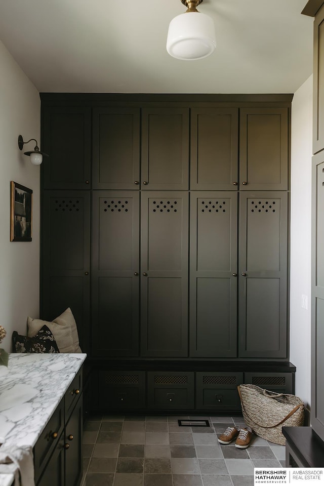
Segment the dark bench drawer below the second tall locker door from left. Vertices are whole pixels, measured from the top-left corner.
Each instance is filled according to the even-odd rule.
[[[145,408],[145,372],[99,372],[100,409]]]

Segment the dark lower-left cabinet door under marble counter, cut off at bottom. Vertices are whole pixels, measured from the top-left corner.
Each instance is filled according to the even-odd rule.
[[[37,486],[63,486],[64,485],[64,432],[58,440],[51,459],[36,483]]]

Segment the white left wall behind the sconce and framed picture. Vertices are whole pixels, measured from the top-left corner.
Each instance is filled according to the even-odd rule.
[[[30,164],[17,139],[21,134],[39,145],[41,101],[1,42],[0,65],[0,324],[7,331],[0,346],[11,351],[12,332],[26,334],[27,316],[38,317],[40,168]],[[24,151],[33,148],[30,142]],[[10,181],[33,191],[31,242],[10,241]]]

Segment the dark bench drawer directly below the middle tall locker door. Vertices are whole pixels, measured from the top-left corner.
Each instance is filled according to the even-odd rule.
[[[193,372],[149,372],[148,408],[193,409]]]

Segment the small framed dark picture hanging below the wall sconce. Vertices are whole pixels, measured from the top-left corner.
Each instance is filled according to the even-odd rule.
[[[31,241],[32,190],[11,181],[10,241]]]

